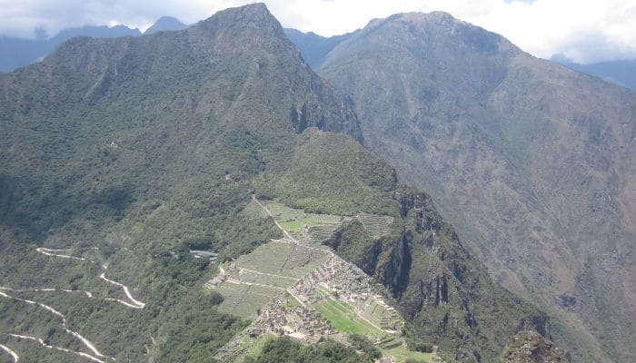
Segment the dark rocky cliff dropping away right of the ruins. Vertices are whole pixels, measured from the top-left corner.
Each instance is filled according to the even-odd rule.
[[[391,290],[409,322],[409,334],[456,352],[467,362],[492,361],[506,337],[522,329],[550,337],[548,317],[492,281],[442,221],[428,195],[400,190],[393,196],[401,216],[391,236],[366,240],[366,246],[379,247],[366,249],[366,257],[359,260],[377,260],[375,269],[367,272]],[[341,253],[337,245],[336,250]]]

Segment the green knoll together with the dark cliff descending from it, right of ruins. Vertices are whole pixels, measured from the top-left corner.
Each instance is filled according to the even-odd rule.
[[[285,191],[279,198],[287,197],[309,211],[393,216],[390,232],[383,237],[353,223],[325,243],[391,291],[407,321],[408,337],[438,344],[466,362],[493,361],[521,329],[550,337],[550,320],[492,281],[483,265],[463,249],[428,195],[400,187],[388,164],[344,135],[310,130],[301,140],[289,169],[274,186],[279,193]],[[322,182],[312,185],[315,180]],[[298,185],[304,188],[296,194]],[[342,185],[349,192],[341,191]],[[374,194],[370,187],[383,192]],[[341,205],[342,201],[348,203]]]

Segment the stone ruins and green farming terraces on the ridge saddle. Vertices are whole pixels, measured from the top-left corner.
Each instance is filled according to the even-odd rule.
[[[304,342],[325,338],[346,341],[348,334],[359,334],[371,338],[385,354],[402,347],[403,319],[383,298],[383,287],[320,244],[311,233],[314,228],[322,228],[331,236],[343,223],[354,219],[370,221],[369,225],[375,227],[377,221],[382,225],[393,221],[391,217],[306,213],[255,198],[246,210],[258,213],[254,205],[273,216],[285,238],[222,264],[219,274],[208,281],[208,289],[224,296],[220,310],[253,319],[250,327],[217,352],[217,358],[241,361],[254,354],[251,348],[267,334]],[[420,353],[418,357],[432,355]]]

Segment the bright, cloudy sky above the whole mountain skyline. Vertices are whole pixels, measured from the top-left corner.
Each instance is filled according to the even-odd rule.
[[[373,18],[441,10],[502,34],[542,58],[578,63],[636,59],[636,0],[264,0],[284,27],[330,36]],[[0,0],[0,35],[55,35],[81,25],[128,25],[142,31],[162,15],[186,24],[242,0]],[[44,31],[44,32],[43,32]]]

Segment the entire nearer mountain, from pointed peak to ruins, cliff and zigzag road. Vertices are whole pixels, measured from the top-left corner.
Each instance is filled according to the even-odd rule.
[[[329,361],[376,357],[370,345],[434,358],[432,343],[447,361],[487,360],[522,329],[551,334],[363,148],[352,104],[264,5],[181,31],[75,37],[0,74],[0,129],[0,342],[15,360],[229,357],[266,338],[251,328],[267,307],[248,296],[287,299],[280,309],[368,353],[303,348]],[[299,284],[333,270],[343,280],[304,302]]]

